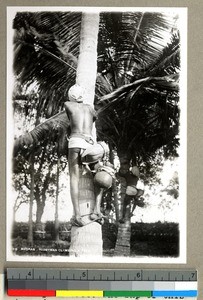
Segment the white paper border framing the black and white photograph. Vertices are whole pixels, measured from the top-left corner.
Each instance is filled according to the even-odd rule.
[[[86,12],[124,12],[124,11],[147,11],[147,12],[166,12],[175,11],[179,14],[180,20],[180,35],[181,35],[181,76],[180,76],[180,159],[181,159],[181,173],[183,175],[179,176],[180,180],[180,195],[183,199],[180,207],[180,240],[179,240],[179,252],[180,255],[177,258],[167,258],[167,257],[100,257],[99,261],[96,256],[91,256],[91,258],[72,258],[72,257],[45,257],[45,256],[29,256],[29,261],[36,262],[88,262],[88,263],[119,263],[119,264],[132,264],[132,263],[160,263],[160,264],[185,264],[186,263],[186,249],[187,249],[187,8],[185,7],[69,7],[69,6],[9,6],[7,7],[7,103],[6,103],[6,147],[7,147],[7,158],[6,158],[6,203],[7,203],[7,261],[24,261],[25,257],[28,256],[16,256],[12,253],[11,249],[11,212],[12,201],[10,201],[10,188],[11,188],[11,174],[12,174],[12,145],[11,140],[13,137],[13,127],[11,120],[12,116],[12,88],[13,88],[13,75],[12,75],[12,21],[17,12],[35,12],[35,11],[86,11]]]

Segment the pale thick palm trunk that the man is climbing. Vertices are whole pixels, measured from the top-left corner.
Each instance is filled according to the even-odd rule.
[[[94,104],[95,82],[97,73],[97,36],[99,30],[99,14],[83,13],[80,35],[80,55],[76,74],[76,83],[87,91],[85,103]],[[93,129],[96,139],[96,130]],[[89,222],[89,215],[95,205],[93,178],[91,173],[80,176],[79,205],[84,221]],[[71,256],[102,256],[101,225],[92,222],[83,227],[72,227]]]

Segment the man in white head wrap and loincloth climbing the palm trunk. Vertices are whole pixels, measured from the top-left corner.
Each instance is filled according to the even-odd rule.
[[[79,85],[74,85],[69,90],[69,100],[65,103],[65,110],[68,118],[70,119],[71,135],[68,142],[68,163],[70,172],[70,192],[71,199],[74,208],[74,220],[73,225],[84,226],[86,223],[82,220],[82,216],[79,208],[79,179],[80,179],[80,166],[82,166],[85,157],[92,157],[91,153],[95,153],[96,161],[89,160],[92,164],[93,170],[94,165],[98,163],[98,160],[103,159],[106,156],[106,149],[104,148],[104,142],[99,145],[92,135],[93,122],[96,120],[96,111],[90,104],[84,104],[84,93],[85,89]],[[94,147],[91,147],[93,146]],[[89,149],[90,148],[90,149]],[[95,149],[96,148],[96,149]],[[88,150],[85,152],[85,150]],[[92,154],[93,154],[92,153]],[[93,158],[93,157],[92,157]],[[104,158],[105,159],[105,158]],[[100,167],[103,163],[100,162]],[[91,169],[88,169],[91,171]],[[93,213],[90,215],[92,220],[99,220],[102,218],[100,212],[100,204],[103,194],[103,186],[98,186],[95,181],[95,197],[96,203]]]

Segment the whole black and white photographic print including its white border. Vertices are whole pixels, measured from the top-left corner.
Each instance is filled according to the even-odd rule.
[[[186,263],[187,9],[7,7],[7,260]]]

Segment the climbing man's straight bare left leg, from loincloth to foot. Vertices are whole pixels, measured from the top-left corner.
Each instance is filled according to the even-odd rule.
[[[83,226],[85,223],[82,221],[79,208],[79,155],[80,148],[70,148],[68,152],[68,164],[70,174],[70,193],[71,200],[75,213],[75,221],[78,226]]]

